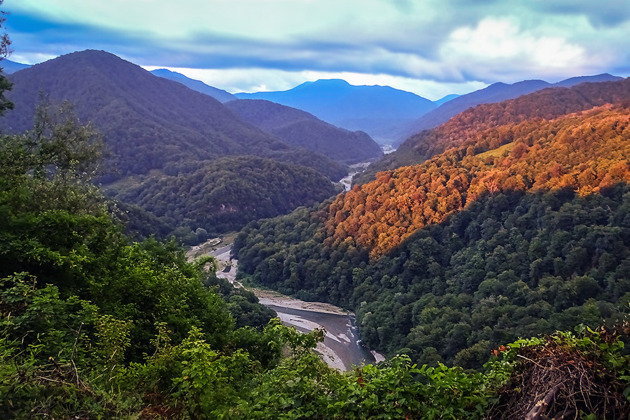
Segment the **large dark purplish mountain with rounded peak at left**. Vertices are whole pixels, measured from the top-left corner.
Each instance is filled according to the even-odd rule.
[[[295,154],[215,99],[103,51],[68,54],[10,79],[15,110],[0,119],[0,128],[21,132],[32,127],[41,92],[51,102],[68,100],[83,121],[104,134],[111,152],[110,179],[226,155]],[[339,172],[343,169],[332,165],[329,175]]]

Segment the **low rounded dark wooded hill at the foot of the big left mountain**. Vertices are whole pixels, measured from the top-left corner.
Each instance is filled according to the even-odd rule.
[[[225,157],[186,172],[150,174],[111,185],[115,197],[169,226],[217,234],[310,206],[338,190],[313,169],[252,156]]]

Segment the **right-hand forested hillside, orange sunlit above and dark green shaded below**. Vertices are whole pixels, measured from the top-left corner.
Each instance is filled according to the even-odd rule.
[[[506,340],[620,319],[629,122],[608,105],[477,132],[315,211],[251,224],[240,268],[355,310],[369,346],[420,362],[479,366]]]

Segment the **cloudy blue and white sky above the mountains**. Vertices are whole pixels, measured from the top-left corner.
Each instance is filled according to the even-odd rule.
[[[630,75],[629,0],[5,0],[13,61],[102,49],[231,92],[343,78],[429,99]]]

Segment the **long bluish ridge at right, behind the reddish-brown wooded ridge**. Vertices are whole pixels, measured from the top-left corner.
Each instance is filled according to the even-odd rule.
[[[620,79],[620,77],[604,73],[595,76],[572,77],[554,84],[545,82],[544,80],[524,80],[511,85],[500,82],[494,83],[484,89],[476,90],[467,95],[462,95],[445,102],[438,108],[426,113],[407,126],[401,126],[395,143],[400,144],[408,137],[419,133],[422,130],[437,127],[438,125],[450,120],[451,117],[454,117],[460,112],[480,104],[489,104],[514,99],[521,95],[527,95],[548,87],[568,88],[580,83],[614,82]]]

